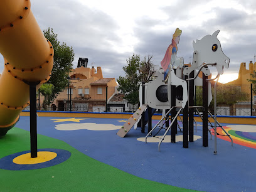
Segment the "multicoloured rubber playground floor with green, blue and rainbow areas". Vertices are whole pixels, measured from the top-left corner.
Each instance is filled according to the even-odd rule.
[[[16,171],[3,164],[3,157],[29,151],[29,117],[20,117],[0,139],[1,191],[255,191],[255,125],[221,124],[234,144],[218,138],[215,156],[210,135],[209,146],[202,146],[200,122],[189,149],[183,148],[178,130],[176,143],[166,136],[159,152],[158,141],[146,143],[140,127],[124,138],[117,136],[127,119],[69,115],[38,117],[38,151],[69,151],[63,163],[40,169],[34,164],[30,170],[19,166]],[[152,125],[157,122],[153,119]]]

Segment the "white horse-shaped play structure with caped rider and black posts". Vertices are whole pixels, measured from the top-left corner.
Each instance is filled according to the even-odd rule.
[[[179,43],[181,30],[176,29],[172,44],[168,47],[166,55],[164,56],[161,65],[163,68],[158,70],[153,76],[154,80],[151,80],[146,85],[142,85],[143,90],[141,94],[143,109],[162,109],[163,116],[161,120],[151,129],[151,124],[149,124],[147,137],[156,137],[157,134],[152,134],[155,129],[165,129],[164,135],[157,137],[160,139],[158,144],[158,149],[160,151],[161,142],[163,142],[164,137],[171,130],[171,142],[176,142],[177,133],[177,120],[182,112],[183,118],[181,122],[183,123],[183,147],[188,148],[189,142],[194,141],[194,114],[198,114],[203,122],[203,146],[208,146],[208,132],[210,132],[208,123],[208,115],[210,118],[214,119],[214,126],[211,128],[214,130],[215,136],[215,150],[214,154],[217,153],[216,150],[216,136],[218,135],[217,125],[225,132],[224,136],[229,137],[231,144],[233,145],[232,138],[223,129],[220,123],[216,120],[216,83],[221,74],[223,74],[223,68],[228,68],[229,58],[221,50],[220,41],[217,35],[220,31],[215,31],[213,35],[206,35],[201,40],[193,41],[193,63],[191,66],[183,65],[183,58],[177,57],[177,44]],[[211,75],[210,68],[215,67],[218,75],[215,78],[208,79]],[[202,78],[200,78],[200,76]],[[214,104],[215,104],[215,114],[211,114],[208,110],[208,106],[212,100],[211,95],[211,84],[210,81],[216,80],[215,82],[215,94],[214,94]],[[203,106],[195,106],[195,86],[203,86]],[[200,114],[199,109],[203,111]],[[151,122],[151,113],[149,114],[149,122]],[[170,117],[171,114],[171,117]],[[134,114],[135,115],[135,114]],[[132,117],[134,117],[132,115]],[[140,113],[139,115],[143,115]],[[139,117],[136,117],[139,119]],[[125,134],[131,129],[131,126],[135,123],[136,119],[129,119],[122,126],[120,131],[117,133],[119,136],[124,137]],[[171,120],[171,124],[169,124]],[[128,129],[129,125],[129,129]],[[165,126],[164,126],[165,125]],[[142,123],[142,129],[144,125]],[[143,130],[144,131],[144,130]],[[142,131],[142,132],[143,132]],[[119,133],[124,134],[120,135]],[[211,134],[210,134],[211,135]]]

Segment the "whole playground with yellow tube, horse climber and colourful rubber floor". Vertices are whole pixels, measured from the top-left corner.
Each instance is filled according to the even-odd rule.
[[[216,84],[230,63],[220,30],[193,41],[188,66],[176,28],[133,114],[43,112],[36,90],[51,78],[54,48],[30,5],[0,3],[0,191],[255,191],[255,117],[216,115]]]

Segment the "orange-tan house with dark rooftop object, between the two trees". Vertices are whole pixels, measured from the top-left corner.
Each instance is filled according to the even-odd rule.
[[[88,59],[79,58],[78,67],[69,73],[69,89],[65,88],[51,104],[50,110],[104,112],[106,101],[115,93],[115,78],[104,78],[102,68],[87,67]],[[71,88],[71,92],[70,92]],[[40,109],[43,97],[40,97]]]

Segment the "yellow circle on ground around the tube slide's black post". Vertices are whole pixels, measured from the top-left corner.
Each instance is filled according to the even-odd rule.
[[[13,159],[13,163],[16,164],[38,164],[38,163],[45,163],[46,161],[51,161],[57,156],[56,152],[50,151],[38,151],[38,156],[35,158],[31,158],[31,154],[26,153],[22,154],[21,156],[15,157]]]

